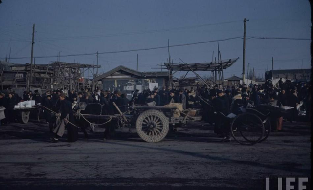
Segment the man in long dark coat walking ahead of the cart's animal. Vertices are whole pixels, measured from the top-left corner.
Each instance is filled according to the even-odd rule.
[[[65,94],[60,94],[60,123],[58,123],[58,125],[53,130],[55,133],[55,137],[52,139],[53,142],[58,142],[58,138],[63,136],[65,127],[67,127],[67,141],[77,141],[78,129],[71,124],[74,123],[72,103],[66,100],[65,97]]]

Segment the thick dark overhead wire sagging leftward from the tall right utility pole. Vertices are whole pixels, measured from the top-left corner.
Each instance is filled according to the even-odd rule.
[[[147,50],[153,50],[153,49],[163,49],[163,48],[168,48],[168,47],[179,47],[179,46],[196,45],[196,44],[218,42],[218,41],[228,41],[228,40],[234,40],[234,39],[243,39],[243,38],[242,37],[233,37],[233,38],[211,40],[211,41],[205,41],[205,42],[184,43],[184,44],[170,45],[170,46],[151,47],[151,48],[142,48],[142,49],[130,49],[130,50],[122,50],[122,51],[100,52],[98,54],[125,53],[125,52],[133,52],[133,51],[147,51]],[[311,39],[306,39],[306,38],[268,38],[268,37],[250,37],[250,38],[246,38],[246,40],[249,40],[249,39],[261,39],[261,40],[311,40]],[[86,56],[86,55],[96,55],[96,53],[82,53],[82,54],[60,55],[60,57],[73,57],[73,56]],[[37,56],[37,57],[34,57],[34,58],[56,58],[56,57],[58,57],[58,56]],[[5,58],[0,58],[0,59],[5,59]],[[16,58],[10,58],[10,59],[29,59],[29,57],[16,57]]]

